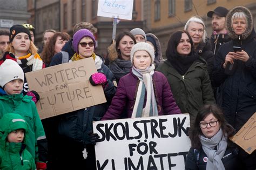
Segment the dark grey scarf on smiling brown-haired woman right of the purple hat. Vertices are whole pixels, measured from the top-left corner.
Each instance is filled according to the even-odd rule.
[[[120,58],[117,58],[109,64],[109,69],[112,71],[114,77],[116,77],[117,79],[120,79],[121,77],[128,74],[130,72],[131,67],[131,60],[123,60]]]

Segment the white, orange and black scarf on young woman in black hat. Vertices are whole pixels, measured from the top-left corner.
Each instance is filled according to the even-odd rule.
[[[32,71],[43,69],[43,60],[38,55],[38,53],[36,53],[35,55],[28,53],[28,55],[22,57],[15,56],[15,59],[17,60],[18,64],[26,63],[26,65],[28,66],[32,65]]]

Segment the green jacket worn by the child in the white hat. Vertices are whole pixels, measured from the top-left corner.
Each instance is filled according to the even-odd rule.
[[[6,95],[0,93],[0,119],[4,114],[8,113],[17,113],[25,118],[29,126],[26,149],[28,149],[36,162],[45,162],[47,142],[44,128],[39,118],[36,104],[31,100],[31,97],[23,96],[23,94]]]

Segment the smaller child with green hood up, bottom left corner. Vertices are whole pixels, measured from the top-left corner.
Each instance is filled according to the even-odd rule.
[[[15,113],[5,114],[0,121],[0,169],[36,169],[35,160],[25,148],[28,124]]]

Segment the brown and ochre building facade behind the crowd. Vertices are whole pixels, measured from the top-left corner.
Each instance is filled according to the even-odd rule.
[[[14,0],[12,0],[14,1]],[[44,30],[73,34],[73,26],[81,21],[92,23],[97,29],[97,53],[106,56],[107,46],[112,40],[113,18],[98,17],[98,0],[27,0],[31,13],[29,23],[36,28],[36,44],[42,41]],[[128,0],[127,0],[128,1]],[[131,1],[131,0],[129,0]],[[206,14],[217,6],[232,9],[246,6],[256,19],[255,0],[134,0],[132,21],[121,19],[117,33],[122,30],[142,28],[146,33],[154,33],[159,38],[163,56],[172,32],[184,29],[188,18],[199,15],[206,23],[208,36],[212,33],[211,18]],[[255,22],[254,22],[254,26]]]

